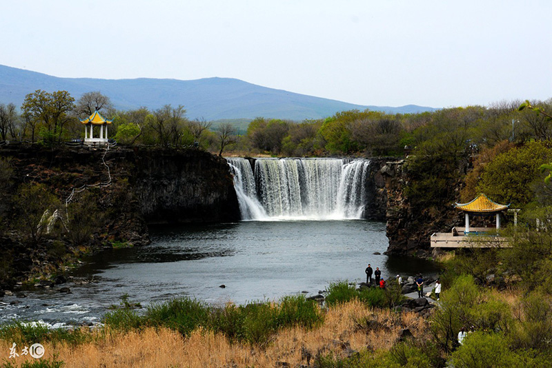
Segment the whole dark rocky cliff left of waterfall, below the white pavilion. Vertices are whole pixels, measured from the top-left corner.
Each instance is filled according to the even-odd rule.
[[[0,163],[0,289],[58,274],[82,252],[147,244],[148,224],[239,221],[226,161],[200,150],[8,145]],[[32,203],[38,218],[45,209],[63,214],[40,238],[25,224],[32,198],[21,199],[36,183],[50,193],[48,203]]]

